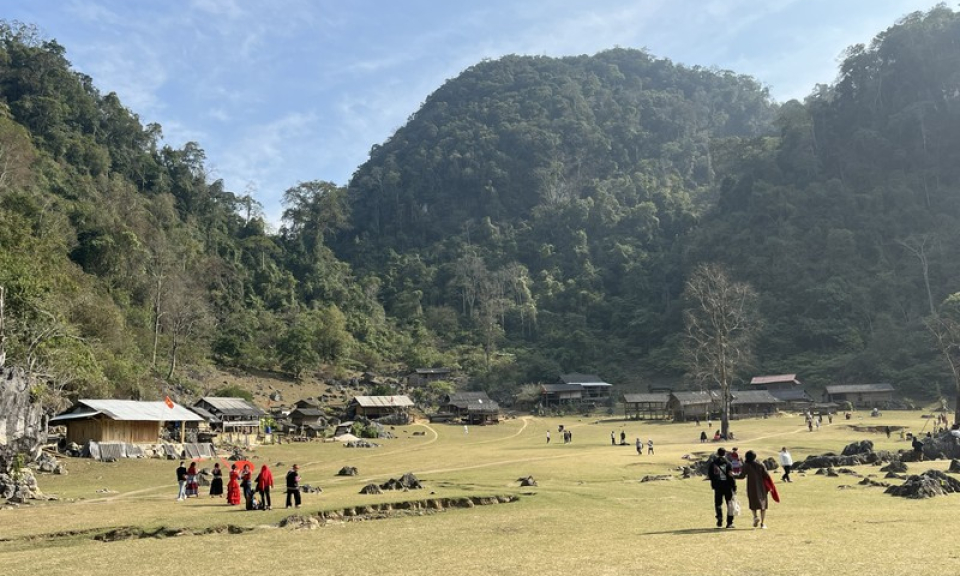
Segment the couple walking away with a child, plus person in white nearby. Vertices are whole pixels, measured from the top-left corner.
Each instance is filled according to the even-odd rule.
[[[786,447],[781,451],[782,454],[789,456]],[[790,460],[791,465],[793,461]],[[767,527],[767,496],[773,496],[775,501],[779,501],[776,487],[773,479],[766,467],[757,461],[757,454],[753,450],[748,450],[744,455],[743,461],[740,460],[740,453],[737,448],[727,453],[726,449],[718,448],[717,453],[708,462],[707,477],[710,479],[710,487],[713,489],[713,507],[717,518],[717,528],[733,528],[733,520],[738,513],[739,501],[736,499],[737,480],[746,480],[747,501],[750,511],[753,513],[753,527],[766,529]],[[785,476],[789,476],[789,470]],[[787,480],[789,481],[789,480]],[[724,524],[726,520],[726,524]]]

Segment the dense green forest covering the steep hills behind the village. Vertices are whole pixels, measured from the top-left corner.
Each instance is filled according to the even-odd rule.
[[[452,366],[509,399],[561,372],[683,385],[684,283],[758,294],[740,377],[954,385],[960,14],[915,13],[804,102],[643,51],[465,70],[346,186],[273,231],[35,28],[0,26],[0,354],[52,396],[196,391],[194,370]],[[320,175],[318,175],[320,176]]]

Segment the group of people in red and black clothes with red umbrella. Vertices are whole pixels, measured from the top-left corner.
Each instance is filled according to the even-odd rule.
[[[186,500],[190,496],[199,497],[199,482],[197,481],[197,463],[191,462],[190,467],[180,462],[177,468],[178,493],[177,501]],[[220,464],[213,465],[210,472],[213,476],[210,481],[210,497],[223,497],[223,470]],[[247,510],[270,510],[273,502],[270,491],[273,488],[273,472],[264,464],[260,473],[253,477],[253,470],[249,464],[238,469],[236,464],[230,466],[230,475],[227,481],[227,504],[231,506],[244,502]],[[294,464],[286,476],[286,506],[300,507],[300,466]]]

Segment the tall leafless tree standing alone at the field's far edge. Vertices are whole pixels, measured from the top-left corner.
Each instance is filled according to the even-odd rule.
[[[722,267],[701,264],[687,281],[684,298],[689,372],[701,383],[720,387],[720,432],[727,437],[730,383],[750,363],[761,327],[757,294],[749,284],[733,281]]]

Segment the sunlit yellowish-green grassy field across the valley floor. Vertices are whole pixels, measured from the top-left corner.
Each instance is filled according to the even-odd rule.
[[[572,444],[562,443],[559,424],[573,430]],[[816,432],[808,432],[797,416],[747,420],[734,423],[740,438],[735,444],[741,453],[753,449],[762,458],[787,446],[797,461],[839,452],[862,439],[878,449],[907,449],[896,435],[888,440],[852,428],[887,424],[919,431],[924,420],[916,412],[888,412],[879,419],[835,420]],[[553,437],[549,445],[547,430]],[[629,445],[611,446],[610,432],[619,436],[621,430]],[[267,512],[241,511],[207,497],[178,503],[175,462],[68,459],[69,475],[40,479],[41,489],[59,501],[0,511],[0,566],[9,575],[76,576],[108,569],[143,575],[265,569],[392,576],[471,571],[916,576],[951,574],[960,566],[951,531],[960,496],[894,498],[881,488],[857,485],[859,478],[852,476],[796,475],[792,484],[778,486],[782,502],[772,504],[768,530],[750,528],[746,510],[736,530],[715,529],[707,482],[639,482],[648,474],[676,475],[684,455],[716,449],[699,443],[700,428],[692,423],[521,418],[471,427],[467,434],[461,426],[427,424],[397,427],[394,433],[396,439],[376,449],[307,443],[261,447],[252,455],[258,465],[271,465],[278,483],[297,462],[304,482],[323,488],[322,494],[304,495],[304,514],[446,496],[518,495],[519,501],[293,530],[277,527],[291,512],[283,509],[282,489]],[[638,436],[654,440],[656,455],[637,455]],[[359,475],[336,476],[347,465]],[[947,465],[911,464],[910,472]],[[424,489],[359,494],[365,484],[405,472],[416,474]],[[883,476],[869,466],[858,472]],[[519,487],[517,478],[527,475],[539,486]],[[220,531],[226,526],[244,530]],[[212,533],[93,539],[116,527]]]

